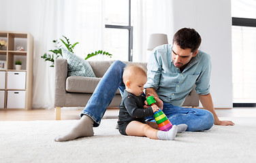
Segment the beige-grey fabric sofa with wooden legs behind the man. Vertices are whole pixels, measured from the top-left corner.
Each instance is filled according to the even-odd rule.
[[[67,59],[57,58],[54,62],[55,66],[55,96],[54,107],[56,109],[56,120],[61,120],[61,107],[84,107],[93,94],[101,77],[108,70],[108,67],[114,62],[110,61],[88,61],[91,65],[96,77],[67,77]],[[130,62],[125,62],[129,64]],[[138,62],[146,69],[146,62]],[[121,103],[121,94],[116,91],[109,108],[118,108]],[[189,96],[185,99],[183,106],[198,107],[199,99],[193,89]]]

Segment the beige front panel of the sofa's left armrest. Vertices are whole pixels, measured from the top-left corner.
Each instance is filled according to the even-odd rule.
[[[58,58],[54,62],[55,67],[55,97],[54,106],[65,106],[67,59]]]

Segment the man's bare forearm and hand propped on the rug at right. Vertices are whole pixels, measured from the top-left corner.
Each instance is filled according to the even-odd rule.
[[[221,120],[219,120],[218,115],[214,111],[214,106],[213,106],[213,103],[212,103],[212,96],[210,95],[210,93],[205,94],[205,95],[198,94],[198,96],[199,96],[199,100],[201,101],[204,109],[210,111],[213,114],[214,124],[221,125],[221,126],[228,126],[228,125],[233,126],[234,125],[234,123],[231,122],[231,121],[221,121]]]

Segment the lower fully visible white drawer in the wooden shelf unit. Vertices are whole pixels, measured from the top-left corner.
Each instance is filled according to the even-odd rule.
[[[7,108],[25,108],[26,91],[8,90]]]

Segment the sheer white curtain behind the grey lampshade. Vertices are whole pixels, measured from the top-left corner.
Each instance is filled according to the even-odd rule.
[[[133,61],[147,62],[150,51],[146,50],[152,33],[167,34],[169,43],[174,35],[172,1],[132,1]]]

